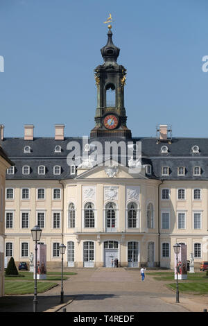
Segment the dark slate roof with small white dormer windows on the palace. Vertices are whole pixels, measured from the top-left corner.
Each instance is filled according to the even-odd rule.
[[[83,138],[68,137],[64,140],[55,140],[54,138],[34,138],[33,141],[24,140],[24,138],[6,138],[2,141],[3,150],[6,151],[8,157],[15,163],[15,175],[6,175],[7,179],[68,179],[74,178],[70,175],[69,166],[67,164],[67,155],[73,150],[67,149],[70,141],[77,141],[80,144],[80,151],[83,151]],[[168,142],[158,142],[157,138],[137,137],[132,139],[124,138],[89,138],[89,144],[92,141],[141,141],[142,164],[151,164],[153,166],[152,175],[148,178],[159,178],[160,180],[208,180],[208,139],[207,138],[173,138],[171,144]],[[55,153],[55,146],[62,147],[61,153]],[[168,153],[162,153],[162,146],[168,147]],[[199,146],[199,153],[192,153],[193,146]],[[24,146],[31,147],[31,153],[24,153]],[[104,146],[103,146],[104,148]],[[90,154],[90,153],[89,153]],[[22,166],[31,166],[30,175],[22,175]],[[37,167],[39,165],[46,166],[46,175],[38,175]],[[53,175],[53,166],[62,166],[61,175]],[[170,167],[170,175],[162,176],[162,166]],[[184,176],[177,175],[177,167],[185,166],[186,174]],[[200,166],[202,175],[193,176],[193,166]]]

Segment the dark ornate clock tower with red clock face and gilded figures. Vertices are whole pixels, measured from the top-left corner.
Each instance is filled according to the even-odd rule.
[[[126,126],[124,87],[126,69],[117,64],[120,49],[112,42],[112,26],[108,26],[107,44],[101,49],[103,65],[94,70],[97,87],[95,127],[90,137],[131,138]]]

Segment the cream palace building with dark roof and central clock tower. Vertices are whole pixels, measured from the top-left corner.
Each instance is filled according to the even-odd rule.
[[[33,125],[24,126],[24,138],[2,137],[15,163],[6,175],[5,255],[17,263],[33,252],[35,225],[42,228],[49,267],[60,266],[60,243],[69,267],[110,267],[118,258],[119,266],[171,268],[175,243],[187,244],[196,264],[208,261],[208,139],[173,138],[166,125],[157,137],[132,137],[119,51],[109,28],[104,63],[94,71],[97,108],[86,144],[65,137],[62,124],[53,138],[35,138]],[[125,164],[123,149],[114,157],[121,143]],[[141,169],[132,173],[139,144]]]

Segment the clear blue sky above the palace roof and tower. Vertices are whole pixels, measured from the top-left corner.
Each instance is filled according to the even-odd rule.
[[[207,0],[0,0],[6,137],[23,137],[26,123],[35,137],[53,137],[55,123],[67,137],[89,135],[110,12],[132,135],[168,124],[173,137],[208,137]]]

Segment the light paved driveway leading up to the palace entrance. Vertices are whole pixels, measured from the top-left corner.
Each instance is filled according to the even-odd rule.
[[[38,312],[203,312],[208,295],[184,295],[175,303],[175,292],[163,281],[128,268],[70,268],[77,275],[64,281],[64,304],[58,286],[37,295]],[[0,312],[33,312],[33,295],[0,298]]]

